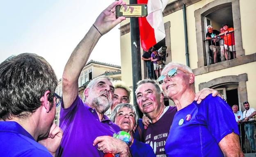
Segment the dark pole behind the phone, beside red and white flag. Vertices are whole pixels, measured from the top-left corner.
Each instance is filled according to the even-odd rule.
[[[130,4],[137,4],[137,0],[130,0]],[[138,18],[130,18],[130,35],[132,50],[133,104],[136,107],[138,116],[142,118],[143,114],[139,110],[135,95],[135,89],[137,87],[136,83],[139,80],[142,80]]]

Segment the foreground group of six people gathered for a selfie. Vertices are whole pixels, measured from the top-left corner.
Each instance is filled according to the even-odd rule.
[[[113,13],[119,4],[125,2],[113,2],[98,16],[66,63],[59,127],[53,124],[60,100],[54,93],[57,77],[50,64],[30,53],[0,64],[0,156],[244,157],[231,108],[213,89],[195,93],[194,74],[183,64],[167,64],[157,82],[137,82],[137,105],[145,114],[140,120],[128,104],[130,89],[120,82],[112,84],[106,76],[91,80],[85,99],[79,97],[78,78],[92,49],[102,35],[125,20]],[[157,60],[151,55],[151,61]],[[164,94],[175,107],[164,105]],[[110,119],[104,115],[109,108]],[[247,114],[249,103],[244,115],[248,120]],[[112,137],[121,130],[131,136],[129,145]]]

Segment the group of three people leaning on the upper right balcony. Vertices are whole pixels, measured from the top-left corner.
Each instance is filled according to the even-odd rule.
[[[222,24],[219,31],[213,29],[212,25],[208,25],[206,40],[208,40],[209,49],[213,53],[214,64],[218,62],[217,55],[220,55],[220,52],[225,60],[236,58],[234,29],[228,24]]]

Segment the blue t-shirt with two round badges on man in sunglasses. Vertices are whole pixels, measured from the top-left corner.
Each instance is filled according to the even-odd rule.
[[[208,95],[175,114],[165,152],[167,157],[224,157],[218,144],[232,132],[239,135],[230,106]]]

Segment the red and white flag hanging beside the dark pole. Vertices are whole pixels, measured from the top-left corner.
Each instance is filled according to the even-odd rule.
[[[137,0],[138,4],[148,5],[148,16],[139,18],[140,43],[144,51],[165,38],[165,25],[162,11],[168,0]]]

